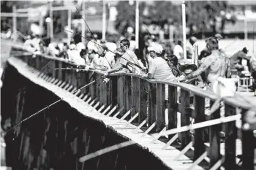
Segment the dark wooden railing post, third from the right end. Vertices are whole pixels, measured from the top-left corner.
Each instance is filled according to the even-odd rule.
[[[214,101],[211,101],[211,106],[214,104]],[[217,119],[220,117],[220,110],[217,109],[212,115],[211,119]],[[220,155],[220,143],[219,143],[219,133],[221,131],[222,125],[212,125],[210,127],[210,150],[209,150],[209,158],[210,158],[210,167],[214,166],[217,161],[221,158]]]

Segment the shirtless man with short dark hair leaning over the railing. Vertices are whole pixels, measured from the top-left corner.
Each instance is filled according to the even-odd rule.
[[[226,75],[229,77],[231,72],[228,58],[224,53],[219,51],[217,38],[211,37],[207,39],[206,47],[211,52],[211,55],[203,61],[199,69],[188,74],[185,79],[191,80],[206,72],[206,83],[212,90],[212,84],[217,81],[218,77],[226,77]]]

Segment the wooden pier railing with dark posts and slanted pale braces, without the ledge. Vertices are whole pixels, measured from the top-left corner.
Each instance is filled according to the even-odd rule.
[[[63,86],[62,82],[68,82],[72,88],[79,88],[87,83],[103,77],[104,72],[78,69],[79,66],[45,55],[33,55],[27,53],[22,55],[20,47],[13,47],[16,50],[15,57],[26,62],[29,66],[39,70],[41,74],[54,77]],[[20,55],[18,54],[20,53]],[[143,128],[144,134],[158,133],[155,140],[166,136],[168,131],[178,127],[178,134],[169,133],[168,142],[163,149],[179,139],[181,142],[181,154],[193,150],[193,161],[190,168],[196,166],[203,160],[208,162],[212,169],[239,169],[236,158],[238,149],[236,141],[241,141],[241,169],[254,169],[255,139],[252,130],[244,130],[244,115],[252,108],[243,99],[229,97],[222,98],[224,106],[217,109],[208,116],[206,98],[214,104],[219,97],[193,85],[177,82],[163,82],[157,80],[146,80],[136,74],[116,73],[110,74],[110,80],[104,78],[97,80],[89,87],[80,90],[75,95],[83,98],[103,115],[118,117],[127,120],[129,123]],[[57,81],[61,80],[61,82]],[[168,88],[165,88],[167,86]],[[67,90],[72,90],[72,88]],[[168,90],[168,100],[165,101],[165,90]],[[178,95],[180,91],[180,95]],[[178,98],[178,96],[180,96]],[[219,118],[235,117],[233,121],[218,123]],[[241,115],[241,121],[237,121],[237,115]],[[193,119],[194,125],[203,125],[192,131],[179,131],[179,127],[189,129]],[[214,122],[214,120],[216,120]],[[199,123],[199,124],[198,124]],[[201,123],[201,124],[200,124]],[[204,124],[206,125],[204,125]],[[221,132],[225,132],[225,139],[221,140]],[[154,142],[154,141],[152,141]],[[221,143],[224,143],[225,152],[221,153]],[[181,155],[177,155],[176,159]]]

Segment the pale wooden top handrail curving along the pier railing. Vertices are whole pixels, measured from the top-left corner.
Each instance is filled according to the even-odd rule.
[[[23,45],[17,45],[17,44],[13,44],[12,47],[15,47],[16,49],[21,49],[21,50],[25,50],[25,51],[28,51],[25,47],[23,47]],[[33,53],[31,53],[32,55]],[[43,57],[43,58],[48,58],[50,60],[55,60],[55,61],[61,61],[61,62],[64,62],[64,63],[67,63],[69,65],[72,65],[72,66],[86,66],[86,65],[78,65],[78,64],[75,64],[75,63],[71,63],[69,61],[66,61],[62,58],[57,58],[57,57],[53,57],[53,56],[50,56],[50,55],[42,55],[42,54],[37,54],[38,56],[40,57]],[[101,70],[94,70],[94,71],[91,71],[89,70],[88,72],[96,72],[97,74],[104,74],[105,71],[101,71]],[[219,98],[219,96],[217,96],[216,94],[214,93],[211,93],[210,91],[207,91],[207,90],[203,90],[195,85],[189,85],[189,84],[186,84],[186,83],[183,83],[183,82],[167,82],[167,81],[162,81],[162,80],[148,80],[148,79],[145,79],[143,77],[141,77],[140,75],[138,74],[132,74],[132,73],[126,73],[126,72],[116,72],[116,73],[113,73],[113,74],[110,74],[109,76],[110,77],[113,77],[113,76],[130,76],[130,77],[139,77],[140,79],[143,79],[143,80],[146,80],[148,82],[151,82],[151,83],[159,83],[159,84],[165,84],[165,85],[171,85],[173,87],[178,87],[178,88],[181,88],[183,90],[187,90],[191,93],[194,93],[196,94],[197,96],[200,96],[200,97],[203,97],[203,98],[209,98],[211,101],[216,101],[217,98]],[[222,98],[222,101],[224,101],[226,104],[229,104],[230,106],[233,106],[233,107],[239,107],[241,109],[251,109],[252,107],[255,107],[255,105],[253,104],[249,104],[247,101],[243,100],[243,99],[239,99],[239,98],[235,98],[235,97],[226,97],[226,98]]]

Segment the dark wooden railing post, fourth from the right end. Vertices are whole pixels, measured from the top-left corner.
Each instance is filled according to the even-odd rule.
[[[205,116],[205,98],[195,95],[195,123],[201,123],[206,121]],[[204,129],[197,128],[195,129],[195,141],[194,141],[194,161],[206,151],[206,147],[204,144]]]

